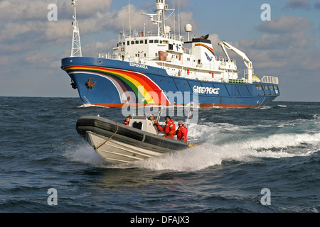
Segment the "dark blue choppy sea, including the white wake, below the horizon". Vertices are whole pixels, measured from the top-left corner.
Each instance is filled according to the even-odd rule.
[[[122,165],[80,138],[86,115],[124,120],[78,98],[0,97],[0,212],[320,211],[320,103],[198,109],[199,146]]]

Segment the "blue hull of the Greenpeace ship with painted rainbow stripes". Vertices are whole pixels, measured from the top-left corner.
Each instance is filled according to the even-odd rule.
[[[277,84],[233,84],[174,77],[158,67],[97,57],[67,57],[61,68],[77,86],[82,101],[96,106],[193,102],[204,108],[248,108],[268,104],[279,96]]]

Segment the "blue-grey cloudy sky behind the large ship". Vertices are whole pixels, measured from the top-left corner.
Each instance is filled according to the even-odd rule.
[[[149,17],[142,16],[153,12],[154,2],[130,0],[132,29],[142,31],[146,23],[155,30]],[[70,56],[70,3],[0,0],[0,96],[78,97],[60,69],[61,58]],[[128,3],[77,1],[82,56],[112,52],[119,31],[129,30]],[[181,25],[191,23],[192,36],[209,34],[216,55],[223,55],[218,42],[225,40],[250,57],[258,77],[279,77],[282,94],[277,101],[320,101],[320,0],[166,1],[170,9],[174,3]],[[57,21],[48,21],[49,4],[57,6]],[[262,4],[270,5],[270,21],[262,21]],[[174,28],[173,20],[169,23]],[[238,60],[238,68],[244,67]]]

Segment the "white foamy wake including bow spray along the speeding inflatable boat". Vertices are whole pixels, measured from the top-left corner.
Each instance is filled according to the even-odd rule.
[[[320,133],[316,134],[275,134],[267,138],[242,140],[221,145],[204,143],[187,150],[173,151],[161,157],[130,162],[121,165],[108,165],[90,146],[82,146],[69,152],[68,157],[76,162],[105,168],[146,168],[149,170],[197,171],[223,161],[257,162],[261,158],[284,158],[309,156],[320,149]]]

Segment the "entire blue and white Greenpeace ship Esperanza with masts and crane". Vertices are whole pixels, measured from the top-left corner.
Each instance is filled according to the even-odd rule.
[[[165,0],[156,0],[149,16],[156,31],[120,31],[112,53],[82,57],[76,11],[73,16],[73,46],[61,68],[71,78],[84,104],[95,106],[198,105],[249,108],[270,103],[279,96],[279,79],[257,77],[244,52],[225,41],[218,43],[225,53],[216,57],[209,35],[190,38],[171,32],[166,20],[174,9]],[[75,10],[75,0],[72,1]],[[171,14],[167,16],[171,11]],[[186,40],[185,40],[186,39]],[[240,76],[235,52],[245,64]]]

